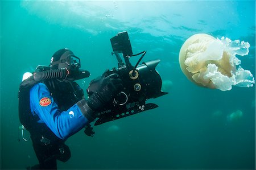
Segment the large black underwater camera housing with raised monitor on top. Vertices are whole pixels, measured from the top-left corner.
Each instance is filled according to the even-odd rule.
[[[158,105],[154,103],[146,103],[147,99],[156,98],[168,94],[161,92],[162,80],[155,67],[160,60],[152,60],[143,62],[142,60],[146,51],[138,53],[142,54],[135,66],[131,65],[129,59],[133,55],[130,39],[127,31],[119,32],[116,36],[110,39],[113,53],[117,57],[118,68],[113,68],[106,72],[106,76],[117,73],[123,81],[123,90],[114,98],[113,103],[106,107],[103,111],[98,113],[98,118],[94,125],[101,125],[102,123],[114,121],[146,111],[155,109]],[[119,53],[123,54],[125,63],[123,63]],[[87,89],[88,97],[90,97],[96,90],[96,80],[92,80]]]

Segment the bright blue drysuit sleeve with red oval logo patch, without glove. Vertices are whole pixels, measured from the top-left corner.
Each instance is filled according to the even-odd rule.
[[[77,104],[67,111],[61,111],[43,83],[31,88],[30,107],[31,113],[38,114],[40,121],[46,123],[60,139],[67,139],[89,123]]]

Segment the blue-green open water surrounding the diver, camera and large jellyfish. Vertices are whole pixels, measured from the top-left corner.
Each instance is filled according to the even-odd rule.
[[[1,169],[38,163],[31,140],[20,138],[18,88],[23,73],[71,49],[91,76],[117,67],[110,38],[128,31],[142,61],[156,67],[169,94],[149,99],[154,110],[81,130],[59,169],[255,169],[255,85],[222,92],[196,86],[179,66],[179,50],[197,33],[250,43],[238,56],[255,77],[255,1],[0,1]],[[139,57],[131,58],[135,65]],[[236,114],[236,113],[240,114]],[[232,114],[234,113],[234,114]],[[230,118],[232,115],[232,118]],[[20,142],[18,141],[20,139]]]

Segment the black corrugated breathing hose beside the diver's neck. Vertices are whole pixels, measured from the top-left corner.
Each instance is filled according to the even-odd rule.
[[[45,72],[35,72],[34,80],[39,82],[43,80],[49,80],[52,78],[65,78],[69,74],[66,69],[53,69]]]

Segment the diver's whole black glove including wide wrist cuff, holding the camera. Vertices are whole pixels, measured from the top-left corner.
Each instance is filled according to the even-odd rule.
[[[89,99],[87,101],[82,99],[77,102],[77,105],[80,107],[82,114],[92,122],[97,117],[96,113],[110,104],[122,88],[122,80],[118,74],[113,73],[106,76],[104,73],[102,77],[90,82],[88,88]]]

